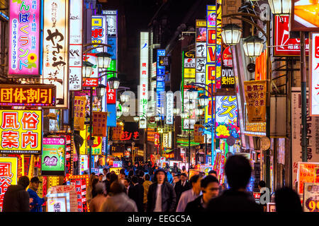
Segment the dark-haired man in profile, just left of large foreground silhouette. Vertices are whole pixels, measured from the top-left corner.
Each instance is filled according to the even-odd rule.
[[[187,203],[185,213],[204,212],[209,201],[216,198],[219,193],[219,183],[216,177],[208,175],[201,179],[202,195],[194,201]],[[186,191],[185,191],[186,192]]]

